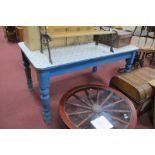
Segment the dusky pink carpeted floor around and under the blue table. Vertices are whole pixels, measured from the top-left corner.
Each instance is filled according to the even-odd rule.
[[[102,65],[97,73],[91,69],[58,76],[51,81],[52,123],[45,124],[42,119],[42,106],[39,100],[38,82],[32,68],[34,92],[29,92],[26,84],[20,49],[16,43],[4,38],[0,27],[0,128],[64,128],[58,114],[61,96],[70,88],[86,83],[108,85],[110,78],[117,74],[117,69],[124,66],[124,61]],[[150,113],[138,118],[137,128],[152,128]]]

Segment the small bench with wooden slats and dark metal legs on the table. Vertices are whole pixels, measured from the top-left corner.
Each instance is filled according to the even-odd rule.
[[[68,26],[69,27],[69,26]],[[77,26],[70,26],[71,28],[73,27],[77,27]],[[82,27],[82,26],[78,26],[78,27]],[[48,56],[49,56],[49,62],[52,64],[52,58],[51,58],[51,49],[50,49],[50,42],[52,41],[52,39],[55,38],[67,38],[67,37],[80,37],[80,36],[97,36],[98,39],[101,35],[108,35],[108,34],[117,34],[115,31],[110,31],[110,30],[103,30],[103,29],[94,29],[94,30],[79,30],[79,31],[68,31],[68,32],[52,32],[49,33],[48,29],[52,29],[52,28],[67,28],[64,26],[45,26],[45,27],[39,27],[40,30],[40,51],[41,53],[43,53],[43,48],[47,48],[48,50]],[[112,39],[113,42],[113,39]],[[98,45],[98,42],[96,41],[96,45]],[[111,46],[110,48],[111,52],[114,52],[113,47]]]

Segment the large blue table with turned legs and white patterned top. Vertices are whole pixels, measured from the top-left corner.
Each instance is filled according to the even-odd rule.
[[[93,67],[93,72],[97,71],[97,65],[116,62],[126,59],[125,71],[131,70],[135,54],[138,50],[133,45],[122,48],[114,48],[114,53],[110,52],[107,45],[88,43],[68,47],[51,49],[53,64],[49,62],[48,52],[44,50],[42,54],[38,51],[30,51],[21,42],[18,44],[23,56],[27,84],[30,90],[33,89],[30,63],[37,71],[40,89],[40,99],[43,105],[43,117],[45,122],[51,121],[50,111],[50,78],[69,72],[75,72],[85,68]]]

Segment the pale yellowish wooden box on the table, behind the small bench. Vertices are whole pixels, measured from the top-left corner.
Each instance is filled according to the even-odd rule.
[[[42,27],[43,28],[43,27]],[[48,33],[52,32],[67,32],[67,31],[81,31],[94,29],[93,26],[50,26]],[[31,50],[40,50],[40,31],[38,26],[25,26],[24,27],[23,41],[25,45]],[[51,35],[52,37],[52,35]],[[80,36],[80,37],[64,37],[64,38],[52,38],[50,42],[51,48],[64,47],[70,45],[77,45],[83,43],[93,42],[93,36]]]

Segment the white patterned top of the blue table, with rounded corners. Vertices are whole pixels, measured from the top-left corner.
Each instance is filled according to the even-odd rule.
[[[30,51],[24,42],[20,42],[18,45],[36,69],[45,69],[138,49],[136,46],[128,45],[122,48],[114,48],[114,53],[112,53],[110,52],[110,46],[104,44],[95,45],[95,42],[51,48],[51,58],[53,61],[53,64],[51,64],[49,62],[47,50],[41,53],[40,50]]]

